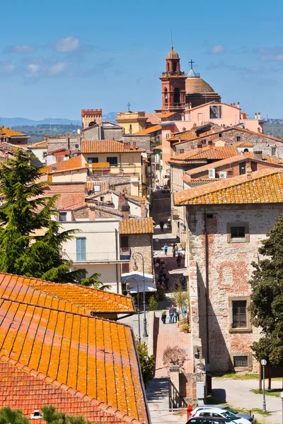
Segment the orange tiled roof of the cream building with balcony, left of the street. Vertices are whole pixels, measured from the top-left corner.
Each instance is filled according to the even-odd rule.
[[[141,153],[144,152],[144,149],[125,146],[124,143],[114,140],[83,140],[81,141],[81,151],[82,153]]]

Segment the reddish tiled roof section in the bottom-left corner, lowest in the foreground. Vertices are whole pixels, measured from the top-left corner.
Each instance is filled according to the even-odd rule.
[[[2,356],[0,359],[0,404],[10,406],[11,409],[21,409],[23,415],[30,418],[30,413],[36,409],[42,411],[42,406],[52,405],[66,414],[83,416],[92,423],[112,422],[115,424],[129,423],[129,417],[120,418],[115,416],[114,411],[96,399],[83,396],[82,393],[74,393],[69,387],[57,387],[52,382],[47,382],[21,363]],[[33,423],[34,420],[30,420]],[[45,420],[37,419],[37,424],[45,424]],[[134,420],[137,424],[137,420]]]

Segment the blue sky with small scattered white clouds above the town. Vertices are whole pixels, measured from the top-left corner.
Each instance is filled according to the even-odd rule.
[[[1,4],[2,117],[152,112],[165,58],[195,61],[223,102],[282,117],[282,2],[13,0]]]

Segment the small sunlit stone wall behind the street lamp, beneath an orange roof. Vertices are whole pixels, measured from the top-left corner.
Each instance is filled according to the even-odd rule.
[[[129,247],[132,252],[132,256],[135,252],[139,252],[144,257],[144,272],[153,274],[153,249],[152,249],[152,234],[129,234]],[[134,259],[129,261],[129,271],[132,271],[134,266]],[[137,254],[137,266],[138,272],[142,273],[142,259]]]

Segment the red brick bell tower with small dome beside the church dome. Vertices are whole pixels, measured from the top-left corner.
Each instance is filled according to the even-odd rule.
[[[162,107],[156,112],[183,112],[185,110],[185,72],[180,71],[180,57],[175,50],[168,52],[166,71],[161,76]]]

